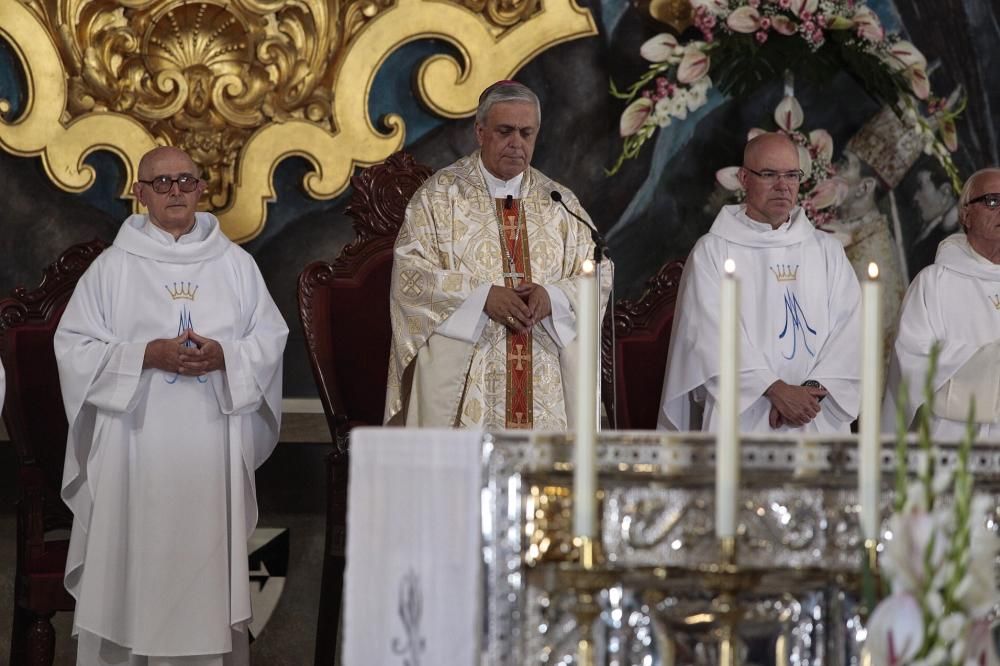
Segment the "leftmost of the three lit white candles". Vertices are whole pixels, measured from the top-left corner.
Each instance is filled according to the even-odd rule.
[[[597,278],[594,262],[583,262],[577,281],[576,446],[573,452],[573,534],[597,536]]]

